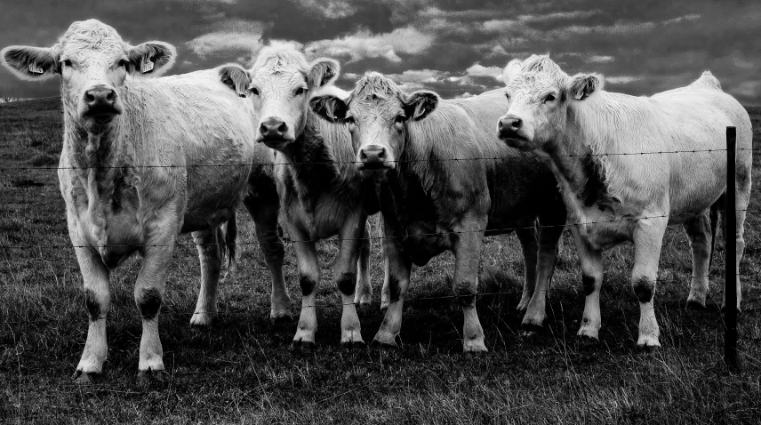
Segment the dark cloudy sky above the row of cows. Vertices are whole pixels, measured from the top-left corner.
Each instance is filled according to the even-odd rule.
[[[761,104],[757,0],[3,0],[0,47],[49,46],[74,20],[97,18],[133,44],[178,48],[170,73],[246,64],[271,40],[340,60],[350,89],[375,70],[443,97],[501,86],[513,58],[548,53],[566,72],[597,71],[607,89],[641,95],[710,69],[744,104]],[[57,80],[0,87],[55,95]]]

